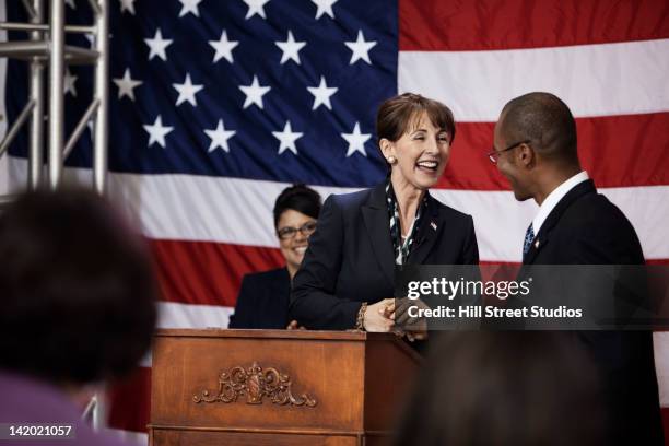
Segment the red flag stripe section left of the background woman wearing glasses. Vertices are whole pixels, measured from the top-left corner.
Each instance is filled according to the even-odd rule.
[[[151,239],[162,298],[234,306],[244,274],[284,265],[277,248]]]

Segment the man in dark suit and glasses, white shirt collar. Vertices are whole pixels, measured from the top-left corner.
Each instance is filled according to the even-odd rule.
[[[517,200],[540,207],[523,243],[524,265],[644,265],[634,227],[580,168],[576,124],[560,98],[530,93],[506,104],[490,157]],[[600,371],[608,443],[662,444],[652,333],[565,336],[585,347]]]

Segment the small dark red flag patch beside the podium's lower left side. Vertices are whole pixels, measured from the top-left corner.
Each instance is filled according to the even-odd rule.
[[[109,427],[146,432],[151,416],[151,368],[138,367],[108,392]]]

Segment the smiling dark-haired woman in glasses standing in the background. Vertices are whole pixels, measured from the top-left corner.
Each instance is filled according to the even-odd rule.
[[[230,328],[297,328],[287,315],[291,281],[316,230],[320,196],[304,185],[284,189],[274,203],[274,228],[285,267],[246,274]]]

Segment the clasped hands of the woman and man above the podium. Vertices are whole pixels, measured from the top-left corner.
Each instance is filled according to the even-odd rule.
[[[410,306],[427,308],[421,300],[385,298],[376,304],[368,305],[363,318],[363,327],[372,332],[392,332],[399,337],[407,337],[411,342],[427,339],[427,320],[411,317]]]

